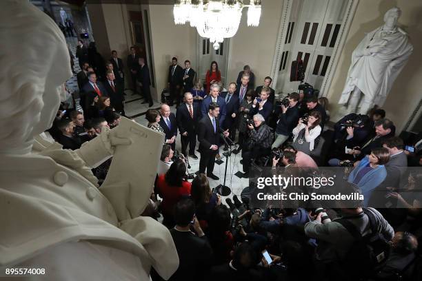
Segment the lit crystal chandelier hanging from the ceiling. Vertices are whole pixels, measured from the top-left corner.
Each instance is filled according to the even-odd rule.
[[[236,34],[245,7],[248,7],[248,26],[258,26],[261,0],[250,0],[249,5],[243,5],[242,0],[176,0],[174,23],[190,22],[190,26],[197,28],[201,37],[209,38],[217,50],[219,43]]]

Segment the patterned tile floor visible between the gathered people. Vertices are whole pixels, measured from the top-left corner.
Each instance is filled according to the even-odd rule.
[[[76,46],[77,46],[77,39],[74,38],[67,38],[66,41],[68,42],[68,45],[70,47],[71,52],[74,54],[75,56],[75,52],[76,52]],[[79,68],[79,63],[78,60],[75,56],[74,58],[74,72],[79,72],[81,71],[81,69]],[[69,79],[68,81],[66,81],[66,86],[68,87],[68,89],[71,92],[74,91],[78,91],[78,85],[77,85],[77,79],[76,79],[76,74]],[[146,110],[148,110],[148,104],[141,104],[142,100],[139,100],[140,96],[138,95],[133,95],[131,90],[125,90],[125,114],[127,116],[137,116],[134,117],[134,120],[137,121],[137,123],[146,126],[148,124],[148,121],[146,121],[145,119],[145,115],[140,115],[146,112]],[[152,108],[157,108],[160,107],[160,103],[154,102],[154,105],[152,105]],[[81,107],[79,106],[79,101],[77,101],[77,109],[81,110]],[[175,114],[176,113],[176,107],[172,106],[171,107],[171,111]],[[139,116],[140,115],[140,116]],[[197,142],[197,148],[198,148],[199,143]],[[176,149],[177,150],[181,150],[181,141],[180,141],[180,134],[178,134],[177,136],[177,141],[176,141]],[[221,156],[223,155],[223,149],[221,149],[220,151]],[[197,156],[199,157],[199,152],[197,152]],[[196,171],[199,170],[199,159],[198,160],[194,160],[192,158],[188,158],[189,163],[190,163],[190,169],[188,169],[188,171],[193,174]],[[223,163],[221,163],[221,165],[218,165],[217,163],[215,164],[214,167],[214,174],[217,175],[220,179],[219,180],[212,180],[209,178],[210,180],[210,187],[214,188],[217,187],[217,185],[223,184],[223,180],[224,180],[224,170],[225,170],[225,161],[227,160],[225,157],[222,158]],[[239,163],[239,161],[241,160],[241,154],[232,154],[232,156],[229,158],[229,162],[228,162],[228,170],[227,170],[227,178],[226,178],[226,182],[225,185],[230,187],[230,189],[232,189],[232,194],[230,194],[230,198],[232,198],[232,196],[234,194],[236,194],[239,198],[240,198],[240,194],[241,191],[244,187],[248,186],[248,179],[247,178],[238,178],[237,176],[234,176],[234,174],[237,173],[237,171],[243,171],[242,170],[242,165]],[[225,199],[225,198],[223,198]],[[223,202],[225,203],[225,201],[223,200]]]

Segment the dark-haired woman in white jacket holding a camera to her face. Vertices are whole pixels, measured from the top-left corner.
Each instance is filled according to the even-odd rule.
[[[293,129],[293,147],[305,154],[310,154],[315,147],[315,140],[321,134],[321,113],[312,111],[307,118],[300,118]]]

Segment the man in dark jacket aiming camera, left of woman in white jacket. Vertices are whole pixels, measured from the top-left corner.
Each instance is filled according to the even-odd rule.
[[[281,101],[281,106],[277,106],[275,113],[279,115],[281,110],[281,115],[279,121],[277,121],[276,127],[276,139],[272,143],[271,148],[279,148],[292,134],[294,125],[299,121],[299,94],[291,93],[287,98],[284,98]]]

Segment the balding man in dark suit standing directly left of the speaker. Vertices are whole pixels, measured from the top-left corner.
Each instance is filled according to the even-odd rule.
[[[181,138],[181,152],[187,156],[186,149],[189,145],[189,155],[198,159],[195,155],[195,146],[197,145],[198,122],[201,119],[201,110],[199,105],[193,102],[193,96],[190,92],[185,93],[185,103],[177,107],[176,120],[179,127]]]

